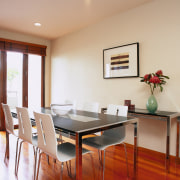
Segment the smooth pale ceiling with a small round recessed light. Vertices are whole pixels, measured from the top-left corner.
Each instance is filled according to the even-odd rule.
[[[149,1],[0,0],[0,29],[55,39]]]

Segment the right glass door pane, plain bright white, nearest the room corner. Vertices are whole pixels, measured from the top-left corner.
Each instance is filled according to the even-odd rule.
[[[28,57],[28,107],[41,107],[41,56]]]

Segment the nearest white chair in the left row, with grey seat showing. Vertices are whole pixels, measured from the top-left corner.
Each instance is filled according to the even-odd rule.
[[[51,115],[34,112],[34,117],[38,131],[38,148],[40,150],[38,156],[39,160],[36,179],[38,179],[41,156],[43,153],[45,153],[61,162],[60,179],[62,180],[64,162],[71,161],[76,157],[76,147],[74,144],[71,144],[69,142],[57,144],[54,124]],[[82,148],[82,154],[86,153],[90,153],[90,151]]]

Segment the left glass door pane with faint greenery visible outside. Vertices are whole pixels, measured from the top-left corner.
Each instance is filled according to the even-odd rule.
[[[12,108],[22,106],[22,62],[22,53],[7,52],[7,104]]]

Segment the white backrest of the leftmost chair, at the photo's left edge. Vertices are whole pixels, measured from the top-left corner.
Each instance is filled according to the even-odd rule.
[[[14,134],[14,123],[13,123],[11,110],[7,104],[3,104],[3,103],[1,104],[5,116],[6,131],[8,131],[11,134]]]

